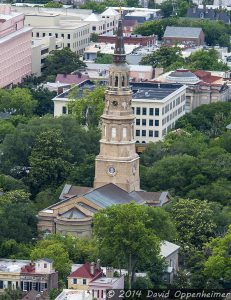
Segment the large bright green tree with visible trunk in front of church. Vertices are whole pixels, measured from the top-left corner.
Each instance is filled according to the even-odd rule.
[[[158,213],[160,211],[156,212],[155,208],[132,202],[108,207],[94,215],[93,232],[100,254],[106,255],[111,264],[128,269],[129,288],[134,282],[136,269],[159,258],[160,236],[163,238],[165,234],[162,231],[164,222],[162,224],[160,218],[160,223],[155,226]],[[171,227],[169,230],[172,232]]]

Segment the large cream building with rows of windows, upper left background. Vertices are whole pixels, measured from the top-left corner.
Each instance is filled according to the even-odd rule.
[[[28,13],[25,16],[25,24],[30,24],[33,28],[33,38],[62,38],[63,47],[68,47],[78,54],[83,54],[90,42],[89,23],[79,18],[65,18],[58,13]]]

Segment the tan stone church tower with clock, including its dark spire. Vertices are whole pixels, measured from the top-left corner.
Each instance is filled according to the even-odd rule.
[[[127,192],[140,190],[139,156],[135,149],[132,91],[123,40],[122,18],[109,68],[105,93],[100,153],[95,162],[94,188],[114,183]]]

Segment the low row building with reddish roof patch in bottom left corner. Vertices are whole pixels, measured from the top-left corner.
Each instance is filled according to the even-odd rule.
[[[0,292],[7,288],[22,291],[50,291],[58,287],[58,273],[47,258],[29,260],[0,259]]]

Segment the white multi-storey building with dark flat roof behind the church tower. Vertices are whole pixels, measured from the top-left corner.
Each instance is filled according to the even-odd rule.
[[[86,81],[81,87],[92,88]],[[181,84],[132,83],[132,107],[136,116],[137,143],[157,142],[174,129],[176,121],[185,114],[186,86]],[[54,116],[68,114],[69,91],[56,96]],[[78,96],[77,96],[78,97]]]

